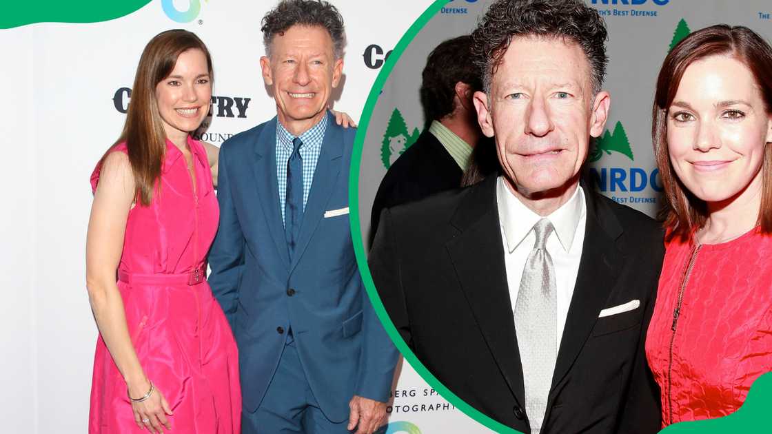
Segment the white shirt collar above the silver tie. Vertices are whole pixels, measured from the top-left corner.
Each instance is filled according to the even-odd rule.
[[[499,176],[496,181],[496,203],[506,237],[506,250],[512,253],[542,217],[523,205],[523,202],[510,192],[503,176]],[[577,225],[585,213],[584,191],[577,185],[574,195],[552,214],[547,215],[547,219],[550,219],[555,228],[560,246],[563,246],[566,252],[571,250]]]

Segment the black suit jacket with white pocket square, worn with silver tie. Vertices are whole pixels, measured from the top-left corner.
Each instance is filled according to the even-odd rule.
[[[659,388],[644,341],[662,232],[641,212],[584,192],[581,263],[541,432],[657,432]],[[480,412],[530,432],[496,176],[385,210],[369,262],[394,326],[426,368]],[[631,300],[640,307],[598,318]]]

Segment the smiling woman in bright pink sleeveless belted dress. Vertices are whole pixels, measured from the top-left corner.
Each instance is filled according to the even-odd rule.
[[[86,283],[100,331],[92,434],[240,432],[236,345],[205,280],[217,148],[190,136],[211,99],[204,43],[185,30],[155,36],[123,134],[91,176]]]

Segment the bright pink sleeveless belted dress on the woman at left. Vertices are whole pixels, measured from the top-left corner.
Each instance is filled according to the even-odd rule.
[[[201,143],[188,137],[196,188],[185,158],[167,141],[160,193],[129,212],[118,289],[132,344],[147,378],[174,415],[171,432],[241,431],[239,358],[228,321],[205,280],[205,257],[219,210]],[[126,152],[119,144],[114,151]],[[94,190],[100,166],[91,175]],[[134,422],[124,379],[100,336],[94,357],[90,434],[145,432]]]

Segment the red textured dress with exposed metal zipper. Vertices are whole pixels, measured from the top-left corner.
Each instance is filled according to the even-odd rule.
[[[662,426],[728,415],[772,371],[772,236],[665,247],[646,337]]]

